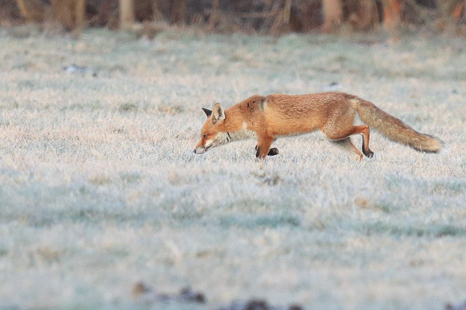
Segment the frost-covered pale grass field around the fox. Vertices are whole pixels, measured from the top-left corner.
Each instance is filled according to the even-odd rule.
[[[0,29],[0,309],[465,301],[466,42],[385,39]],[[201,107],[327,90],[447,152],[374,133],[375,159],[357,162],[316,132],[277,140],[262,165],[254,140],[193,154]],[[138,280],[207,303],[140,304]]]

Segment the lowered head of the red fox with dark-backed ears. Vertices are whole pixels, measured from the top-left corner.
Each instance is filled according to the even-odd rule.
[[[194,149],[196,154],[202,154],[210,148],[227,144],[232,140],[225,127],[225,111],[222,106],[217,102],[212,111],[204,108],[202,110],[207,115],[207,120],[202,126],[200,141]]]

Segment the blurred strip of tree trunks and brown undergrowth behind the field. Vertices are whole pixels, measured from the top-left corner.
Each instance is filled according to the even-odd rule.
[[[86,27],[141,29],[163,25],[206,31],[279,35],[449,31],[466,34],[466,0],[0,0],[0,26],[37,23],[79,33]]]

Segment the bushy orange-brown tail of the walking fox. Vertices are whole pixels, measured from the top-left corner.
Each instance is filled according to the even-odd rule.
[[[361,121],[374,127],[388,139],[406,144],[420,152],[438,153],[441,150],[442,141],[417,132],[396,117],[377,108],[372,102],[361,98],[351,101],[355,103]]]

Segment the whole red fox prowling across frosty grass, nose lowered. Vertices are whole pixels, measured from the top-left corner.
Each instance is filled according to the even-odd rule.
[[[252,95],[226,110],[219,103],[212,111],[202,109],[207,121],[194,149],[196,154],[235,140],[257,137],[256,157],[264,159],[279,153],[278,149],[270,148],[277,138],[320,129],[333,144],[356,153],[361,160],[363,154],[369,158],[374,156],[369,149],[369,126],[388,139],[420,152],[437,153],[443,144],[430,135],[417,132],[371,102],[348,93]],[[365,125],[354,125],[356,112]],[[356,134],[363,137],[363,154],[350,140],[350,136]]]

